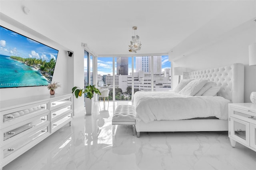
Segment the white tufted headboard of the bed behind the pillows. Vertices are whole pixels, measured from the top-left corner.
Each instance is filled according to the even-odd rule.
[[[183,79],[206,79],[221,86],[218,96],[232,103],[244,103],[244,65],[240,63],[213,69],[184,72]]]

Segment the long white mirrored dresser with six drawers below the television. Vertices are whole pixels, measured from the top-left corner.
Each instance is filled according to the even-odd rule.
[[[0,103],[0,169],[73,119],[72,94],[24,97]]]

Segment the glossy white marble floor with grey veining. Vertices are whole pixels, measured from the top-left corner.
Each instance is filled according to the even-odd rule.
[[[141,132],[112,116],[127,101],[96,103],[90,116],[75,113],[68,124],[4,166],[3,170],[256,170],[256,152],[228,132]]]

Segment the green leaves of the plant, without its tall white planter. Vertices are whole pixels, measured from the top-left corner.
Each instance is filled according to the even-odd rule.
[[[82,94],[85,94],[85,96],[90,99],[92,99],[94,93],[101,95],[100,90],[97,89],[95,85],[88,85],[85,89],[75,86],[72,88],[72,93],[75,94],[76,98],[78,98],[78,96],[81,97]]]

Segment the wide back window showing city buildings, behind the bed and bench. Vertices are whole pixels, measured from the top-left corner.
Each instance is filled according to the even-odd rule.
[[[171,89],[168,55],[96,58],[97,81],[103,80],[110,89],[110,100],[131,100],[136,91]]]

